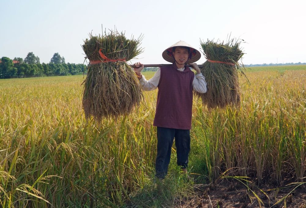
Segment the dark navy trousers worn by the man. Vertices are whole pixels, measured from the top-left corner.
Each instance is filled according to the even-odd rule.
[[[156,177],[164,178],[168,172],[171,147],[175,138],[177,165],[187,168],[190,151],[190,130],[157,127]]]

